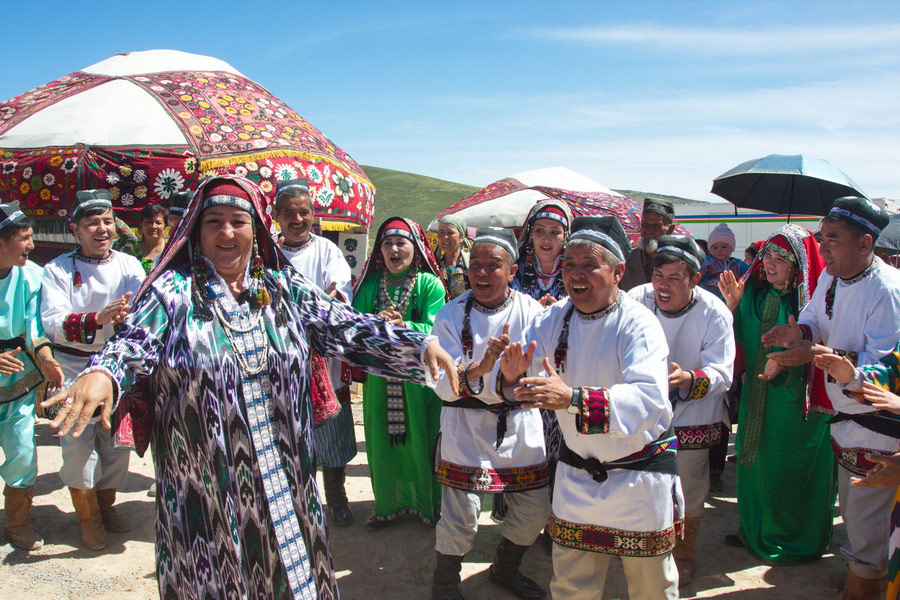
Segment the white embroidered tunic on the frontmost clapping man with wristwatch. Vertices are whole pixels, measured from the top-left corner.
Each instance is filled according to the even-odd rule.
[[[568,299],[557,302],[526,331],[527,342],[537,341],[529,375],[542,374],[545,356],[554,362],[571,307]],[[583,458],[609,462],[659,440],[672,424],[667,356],[659,321],[624,292],[600,313],[574,311],[565,369],[559,375],[566,384],[589,388],[608,402],[594,412],[602,417],[597,433],[582,433],[575,415],[556,411],[566,445]],[[612,469],[598,483],[586,470],[560,461],[551,533],[557,543],[582,550],[656,556],[674,546],[674,521],[683,506],[676,475]]]

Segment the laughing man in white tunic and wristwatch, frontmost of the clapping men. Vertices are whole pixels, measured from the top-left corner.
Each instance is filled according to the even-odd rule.
[[[555,600],[600,600],[612,555],[632,600],[678,597],[668,347],[653,313],[618,288],[628,250],[615,218],[575,219],[562,262],[569,297],[499,361],[504,396],[556,410],[565,438],[550,517]]]

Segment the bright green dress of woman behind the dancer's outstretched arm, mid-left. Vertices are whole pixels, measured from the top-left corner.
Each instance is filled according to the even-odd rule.
[[[353,307],[377,313],[381,273],[375,271],[359,287]],[[392,297],[398,290],[387,286]],[[444,286],[431,273],[419,272],[413,285],[404,322],[407,327],[431,333],[434,317],[444,305]],[[441,422],[441,400],[429,388],[403,384],[406,436],[403,443],[391,443],[388,434],[387,381],[366,376],[363,385],[363,417],[366,455],[375,494],[375,517],[392,520],[414,514],[426,523],[437,521],[441,506],[441,486],[432,467],[432,456]]]

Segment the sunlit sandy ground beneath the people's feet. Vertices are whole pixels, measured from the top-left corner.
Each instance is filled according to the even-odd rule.
[[[109,547],[91,552],[79,547],[80,530],[68,491],[57,475],[59,444],[41,420],[37,427],[39,475],[36,484],[34,527],[45,546],[36,552],[15,549],[0,534],[0,598],[138,599],[156,598],[153,553],[154,507],[147,496],[153,476],[149,453],[132,456],[127,486],[119,494],[119,511],[131,519],[128,533],[109,534]],[[402,520],[378,532],[367,533],[363,523],[371,514],[373,498],[365,461],[362,427],[357,424],[359,454],[348,467],[348,495],[356,523],[331,528],[331,547],[341,597],[344,600],[427,599],[434,567],[434,529],[417,519]],[[725,545],[723,537],[737,528],[734,465],[728,464],[725,490],[707,500],[700,532],[694,580],[682,588],[682,598],[830,599],[839,593],[828,587],[827,577],[844,568],[836,557],[846,540],[835,513],[834,543],[821,560],[795,567],[768,567],[743,549]],[[321,481],[320,481],[321,484]],[[463,563],[461,589],[474,600],[513,598],[487,577],[500,527],[490,520],[490,502],[483,507],[475,548]],[[523,571],[543,586],[552,575],[550,557],[539,544],[523,561]],[[603,596],[627,598],[621,564],[613,561]]]

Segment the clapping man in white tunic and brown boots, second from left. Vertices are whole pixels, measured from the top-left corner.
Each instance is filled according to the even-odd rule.
[[[47,263],[41,288],[41,322],[66,386],[112,337],[144,279],[138,259],[111,249],[115,214],[108,191],[78,192],[69,216],[80,246]],[[106,546],[104,528],[131,529],[113,507],[116,489],[125,484],[131,451],[114,448],[110,431],[97,427],[97,420],[80,437],[60,438],[59,476],[72,495],[81,540],[91,550]]]

